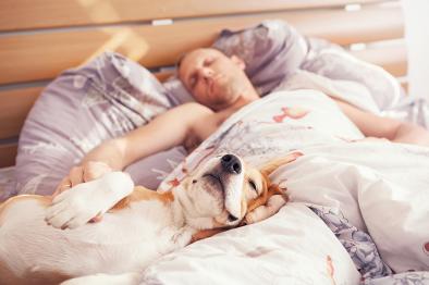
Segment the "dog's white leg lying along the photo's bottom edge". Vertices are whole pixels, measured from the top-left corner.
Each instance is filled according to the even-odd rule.
[[[140,273],[128,272],[123,274],[94,274],[64,281],[61,285],[136,285]]]

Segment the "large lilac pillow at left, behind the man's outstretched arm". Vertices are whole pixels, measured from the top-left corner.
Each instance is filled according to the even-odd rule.
[[[16,190],[51,194],[90,149],[147,124],[171,107],[173,100],[158,79],[118,53],[106,52],[82,67],[63,72],[42,91],[21,132]],[[136,184],[156,189],[158,178],[169,173],[184,152],[174,148],[130,165],[127,171]]]

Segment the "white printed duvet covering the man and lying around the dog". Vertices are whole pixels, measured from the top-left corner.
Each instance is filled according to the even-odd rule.
[[[358,284],[352,258],[307,206],[330,209],[369,233],[396,273],[429,270],[429,149],[356,141],[361,138],[336,104],[316,90],[275,92],[246,106],[160,190],[220,152],[258,165],[299,150],[303,157],[271,176],[287,187],[292,201],[261,223],[163,257],[144,272],[143,283]]]

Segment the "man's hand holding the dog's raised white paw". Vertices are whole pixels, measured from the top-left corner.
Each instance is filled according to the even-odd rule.
[[[74,166],[68,176],[65,176],[58,185],[56,191],[52,194],[52,200],[61,193],[70,188],[97,179],[103,174],[112,172],[113,170],[105,162],[88,161],[82,165]],[[101,221],[101,215],[94,216],[91,222]]]

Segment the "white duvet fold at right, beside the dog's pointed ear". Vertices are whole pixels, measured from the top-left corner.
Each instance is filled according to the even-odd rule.
[[[429,269],[429,149],[394,144],[308,149],[273,181],[292,200],[339,209],[395,272]]]

